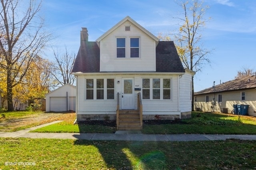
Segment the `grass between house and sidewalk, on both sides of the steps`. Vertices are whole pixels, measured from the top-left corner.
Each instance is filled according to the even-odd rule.
[[[70,117],[72,118],[72,117]],[[77,132],[77,133],[114,133],[114,126],[73,125],[75,118],[32,132]],[[144,124],[143,134],[256,134],[256,117],[237,116],[222,113],[193,112],[191,119],[171,124]]]

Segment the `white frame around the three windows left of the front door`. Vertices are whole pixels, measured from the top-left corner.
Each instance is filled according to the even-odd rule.
[[[109,78],[87,78],[87,79],[93,79],[93,99],[86,99],[86,79],[84,79],[84,100],[97,100],[97,101],[110,101],[110,100],[116,100],[116,81],[115,78],[109,77]],[[104,79],[104,99],[97,99],[97,79]],[[107,99],[107,79],[114,79],[114,99]]]

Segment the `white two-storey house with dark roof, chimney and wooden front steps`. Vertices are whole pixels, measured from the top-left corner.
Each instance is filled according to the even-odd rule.
[[[184,69],[174,42],[160,42],[129,16],[96,42],[88,42],[87,28],[80,35],[72,70],[77,77],[77,121],[108,116],[117,124],[127,123],[130,115],[142,125],[142,119],[155,115],[191,117],[194,72]]]

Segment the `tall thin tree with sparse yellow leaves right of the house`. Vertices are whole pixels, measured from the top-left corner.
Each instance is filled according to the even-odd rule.
[[[204,18],[208,6],[202,7],[202,2],[190,0],[178,4],[183,9],[180,20],[179,32],[173,34],[176,48],[185,68],[194,71],[201,71],[203,66],[210,64],[208,55],[210,51],[204,49],[202,40],[202,30],[208,20]],[[192,76],[192,111],[194,110],[194,76]]]

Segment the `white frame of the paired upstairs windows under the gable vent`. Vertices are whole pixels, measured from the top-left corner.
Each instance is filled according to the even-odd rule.
[[[117,57],[117,38],[125,38],[125,57]],[[131,38],[138,38],[139,39],[139,57],[131,57],[130,50],[132,47],[130,47]],[[115,56],[117,59],[140,59],[141,57],[141,37],[140,36],[115,36]],[[121,47],[120,47],[121,48]],[[123,48],[123,47],[122,47]]]

